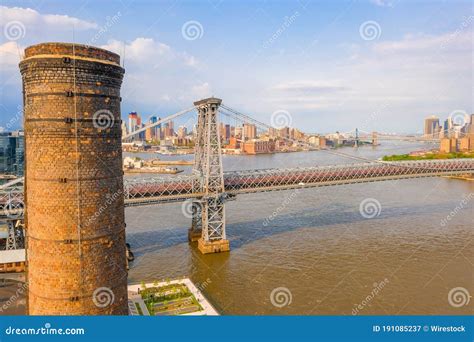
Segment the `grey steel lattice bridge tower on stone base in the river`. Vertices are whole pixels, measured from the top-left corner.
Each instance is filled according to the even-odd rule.
[[[193,184],[194,192],[204,194],[192,204],[192,225],[189,239],[198,236],[198,248],[203,254],[230,250],[225,232],[224,176],[218,109],[221,99],[208,98],[194,102],[198,110]]]

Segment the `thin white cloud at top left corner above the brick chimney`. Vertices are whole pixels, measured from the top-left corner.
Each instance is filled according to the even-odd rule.
[[[76,30],[97,29],[96,23],[59,14],[41,14],[31,8],[0,6],[2,26],[11,21],[20,21],[26,29],[44,28],[44,26],[63,29],[73,27]]]

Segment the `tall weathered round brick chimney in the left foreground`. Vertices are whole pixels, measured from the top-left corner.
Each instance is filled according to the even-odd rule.
[[[32,315],[127,314],[119,63],[61,43],[20,63]]]

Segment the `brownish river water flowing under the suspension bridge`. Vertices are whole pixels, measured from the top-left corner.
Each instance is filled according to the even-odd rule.
[[[338,151],[377,159],[431,147]],[[353,162],[324,151],[223,157],[225,170]],[[474,294],[472,193],[474,182],[426,178],[241,195],[226,204],[231,251],[211,255],[188,243],[181,204],[127,208],[129,282],[186,276],[229,315],[472,314],[462,302]],[[380,203],[378,215],[361,214],[366,202]]]

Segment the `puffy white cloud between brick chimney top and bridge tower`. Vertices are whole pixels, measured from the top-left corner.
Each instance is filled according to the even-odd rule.
[[[127,44],[109,40],[101,48],[125,56],[123,98],[135,107],[182,109],[211,93],[210,84],[201,79],[197,59],[167,44],[138,37]]]

